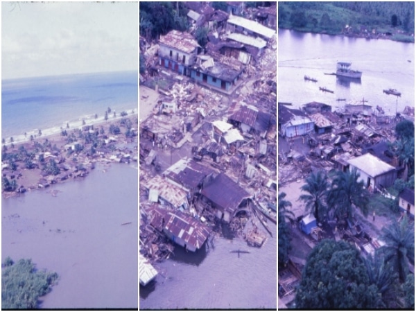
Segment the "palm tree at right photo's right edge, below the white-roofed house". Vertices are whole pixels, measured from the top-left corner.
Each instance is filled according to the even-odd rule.
[[[392,223],[383,227],[382,239],[385,261],[399,272],[399,278],[403,282],[409,272],[409,261],[415,263],[415,228],[409,223],[405,215],[400,223]]]

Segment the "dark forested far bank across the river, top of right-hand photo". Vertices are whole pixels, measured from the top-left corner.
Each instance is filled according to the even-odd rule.
[[[414,2],[279,2],[279,28],[311,33],[366,35],[391,33],[392,40],[414,42]]]

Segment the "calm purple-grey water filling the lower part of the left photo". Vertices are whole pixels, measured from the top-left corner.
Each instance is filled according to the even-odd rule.
[[[2,261],[31,258],[60,275],[42,309],[137,308],[137,168],[106,168],[1,200]]]

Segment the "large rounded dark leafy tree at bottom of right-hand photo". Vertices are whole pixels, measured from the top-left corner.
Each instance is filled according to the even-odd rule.
[[[297,309],[374,309],[380,301],[353,245],[325,239],[313,248],[296,293]]]

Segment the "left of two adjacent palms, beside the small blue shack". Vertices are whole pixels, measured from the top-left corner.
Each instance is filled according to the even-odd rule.
[[[313,216],[320,223],[327,212],[327,206],[324,205],[324,200],[329,189],[327,174],[322,171],[316,174],[311,173],[309,177],[306,177],[306,184],[300,189],[307,194],[302,194],[299,200],[304,202],[306,211],[313,211]]]

